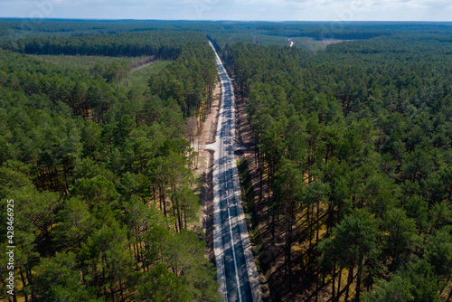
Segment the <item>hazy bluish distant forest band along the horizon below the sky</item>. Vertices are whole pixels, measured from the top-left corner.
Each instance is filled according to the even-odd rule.
[[[197,21],[133,21],[133,20],[29,20],[0,19],[0,38],[19,42],[29,38],[84,37],[104,34],[122,34],[177,31],[180,33],[212,34],[222,36],[268,35],[271,37],[312,37],[318,40],[328,38],[343,40],[371,39],[402,33],[445,33],[450,23],[403,23],[403,22],[197,22]],[[226,38],[227,39],[227,38]],[[278,39],[274,41],[278,44]],[[59,54],[55,52],[55,54]]]

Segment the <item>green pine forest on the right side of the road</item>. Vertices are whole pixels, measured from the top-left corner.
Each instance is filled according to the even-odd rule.
[[[226,45],[278,247],[259,255],[272,298],[451,300],[450,37]]]

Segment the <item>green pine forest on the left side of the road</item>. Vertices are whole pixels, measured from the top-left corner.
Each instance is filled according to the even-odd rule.
[[[167,47],[187,46],[174,64],[185,68],[184,85],[201,89],[202,75],[193,72],[214,70],[215,62],[192,56],[211,58],[209,44],[195,33],[184,41]],[[136,94],[96,72],[0,56],[0,199],[14,200],[16,246],[15,296],[4,291],[1,299],[218,300],[196,231],[188,90],[181,99],[155,87]],[[187,70],[196,60],[202,67]],[[0,221],[6,225],[6,211]],[[2,231],[4,250],[7,240]]]

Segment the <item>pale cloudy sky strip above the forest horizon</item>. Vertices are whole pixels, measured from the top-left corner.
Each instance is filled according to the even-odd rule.
[[[452,0],[0,0],[0,17],[452,21]]]

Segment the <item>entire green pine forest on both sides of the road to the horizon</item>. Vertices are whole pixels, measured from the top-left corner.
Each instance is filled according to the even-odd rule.
[[[61,20],[0,20],[0,299],[220,300],[187,141],[208,39],[254,136],[264,299],[452,301],[451,24]],[[171,62],[143,92],[127,61],[49,54]]]

